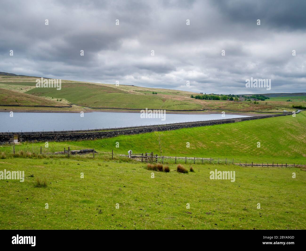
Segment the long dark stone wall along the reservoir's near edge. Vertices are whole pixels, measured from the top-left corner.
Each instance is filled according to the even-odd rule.
[[[60,142],[60,141],[76,141],[76,140],[94,140],[115,137],[118,135],[132,135],[153,131],[170,131],[181,128],[228,124],[247,120],[258,120],[264,118],[292,115],[291,112],[284,114],[253,116],[244,118],[222,119],[222,120],[206,120],[196,122],[184,122],[175,124],[122,127],[109,129],[94,129],[82,131],[39,131],[39,132],[0,132],[0,145],[13,143],[14,135],[18,135],[20,142]]]

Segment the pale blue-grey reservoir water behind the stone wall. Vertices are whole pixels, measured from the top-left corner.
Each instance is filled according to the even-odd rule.
[[[217,120],[248,117],[225,114],[166,114],[162,118],[141,118],[140,113],[132,112],[0,112],[0,132],[25,131],[66,131],[102,129],[153,124],[170,124],[190,121]]]

